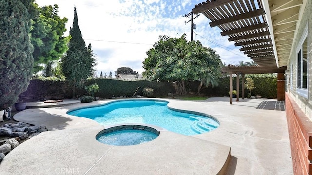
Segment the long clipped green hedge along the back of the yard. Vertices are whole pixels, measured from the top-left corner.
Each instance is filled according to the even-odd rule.
[[[263,98],[277,98],[277,75],[246,75],[245,78],[253,78],[255,88],[251,91],[252,95],[261,95]],[[154,97],[167,96],[168,93],[175,93],[175,88],[170,82],[154,82],[148,80],[123,81],[117,79],[89,79],[85,82],[85,86],[97,83],[99,92],[95,93],[95,97],[110,98],[119,96],[132,96],[137,88],[139,90],[135,95],[143,95],[143,88],[150,87],[154,89]],[[187,83],[188,90],[197,93],[199,81],[190,81]],[[239,85],[239,94],[241,96],[241,78]],[[233,90],[236,89],[236,77],[233,77]],[[87,95],[87,91],[83,88],[76,90],[77,97]],[[71,98],[72,89],[65,81],[61,80],[43,80],[33,79],[22,93],[24,101],[36,101],[41,99],[62,99]],[[219,86],[208,87],[201,91],[201,95],[209,97],[229,96],[229,77],[219,79]],[[248,95],[248,89],[245,89],[245,97]]]

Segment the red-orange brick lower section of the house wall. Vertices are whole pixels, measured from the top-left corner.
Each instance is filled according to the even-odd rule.
[[[312,175],[312,121],[288,93],[285,95],[286,117],[292,152],[294,175]]]

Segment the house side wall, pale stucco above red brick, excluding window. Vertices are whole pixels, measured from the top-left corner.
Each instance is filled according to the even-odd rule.
[[[286,78],[285,106],[295,175],[312,175],[312,0],[307,0],[303,18],[292,42]],[[308,26],[308,27],[307,27]],[[300,94],[298,83],[298,49],[308,29],[308,85],[307,96]],[[300,50],[300,49],[299,49]]]

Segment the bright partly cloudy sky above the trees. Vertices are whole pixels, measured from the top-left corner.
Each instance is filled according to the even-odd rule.
[[[146,52],[157,42],[159,35],[181,37],[187,34],[191,40],[190,18],[185,17],[195,4],[205,0],[36,0],[39,6],[59,6],[59,16],[66,17],[67,31],[73,26],[74,7],[78,25],[86,45],[91,43],[97,63],[96,76],[100,72],[113,76],[119,67],[130,67],[139,74],[144,71],[142,62]],[[193,18],[196,15],[193,16]],[[215,49],[225,64],[251,61],[227,36],[221,36],[218,27],[211,28],[211,22],[204,15],[193,20],[193,40],[203,46]]]

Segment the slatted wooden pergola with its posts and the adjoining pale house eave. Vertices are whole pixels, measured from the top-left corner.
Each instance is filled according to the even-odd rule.
[[[229,41],[234,41],[235,46],[241,47],[240,51],[259,65],[242,68],[229,66],[224,71],[230,73],[231,77],[232,74],[278,73],[282,82],[298,27],[297,20],[303,13],[300,9],[304,9],[301,7],[302,2],[303,0],[207,0],[195,5],[192,11],[194,14],[202,13],[210,19],[211,27],[219,27],[222,36],[227,35]]]

